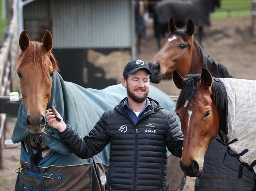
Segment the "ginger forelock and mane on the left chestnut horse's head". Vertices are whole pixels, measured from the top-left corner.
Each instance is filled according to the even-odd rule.
[[[50,53],[51,64],[47,62],[49,58],[48,52],[43,48],[41,42],[30,41],[28,47],[22,51],[16,58],[16,62],[19,62],[19,66],[16,70],[16,73],[25,65],[33,64],[33,67],[41,67],[43,76],[47,80],[49,77],[48,71],[52,67],[54,73],[59,71],[58,62],[52,51]]]

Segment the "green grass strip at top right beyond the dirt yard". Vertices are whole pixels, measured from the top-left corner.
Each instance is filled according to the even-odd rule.
[[[224,19],[228,17],[251,16],[251,6],[251,0],[221,0],[221,7],[215,9],[214,13],[211,13],[211,18]]]

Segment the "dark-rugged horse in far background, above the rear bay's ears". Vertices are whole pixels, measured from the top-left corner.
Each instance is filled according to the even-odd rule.
[[[168,33],[168,21],[174,18],[177,27],[184,27],[188,19],[198,26],[199,44],[202,44],[203,27],[210,26],[210,13],[220,7],[221,0],[164,0],[154,7],[154,32],[160,45]],[[154,6],[154,5],[152,5]],[[152,7],[150,7],[152,10]]]

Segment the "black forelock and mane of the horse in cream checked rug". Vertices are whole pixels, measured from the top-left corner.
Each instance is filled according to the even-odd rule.
[[[195,95],[197,94],[198,84],[200,82],[201,75],[188,75],[182,82],[182,91],[177,100],[176,111],[183,107],[186,101],[191,102]],[[225,109],[226,95],[224,87],[220,82],[213,80],[212,82],[212,98],[213,104],[218,111]]]

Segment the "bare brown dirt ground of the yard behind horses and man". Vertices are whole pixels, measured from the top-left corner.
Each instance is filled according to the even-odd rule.
[[[148,23],[148,27],[152,24]],[[212,26],[205,28],[203,49],[216,62],[226,66],[230,74],[236,78],[256,80],[256,36],[250,33],[250,18],[228,18],[226,20],[212,20]],[[157,53],[158,46],[151,28],[142,40],[141,54],[138,59],[149,62]],[[153,84],[168,95],[178,95],[179,90],[172,81]],[[15,118],[7,120],[6,139],[11,138]],[[5,149],[4,169],[0,170],[0,191],[14,190],[18,168],[20,147]],[[195,178],[187,178],[184,191],[193,191]]]

